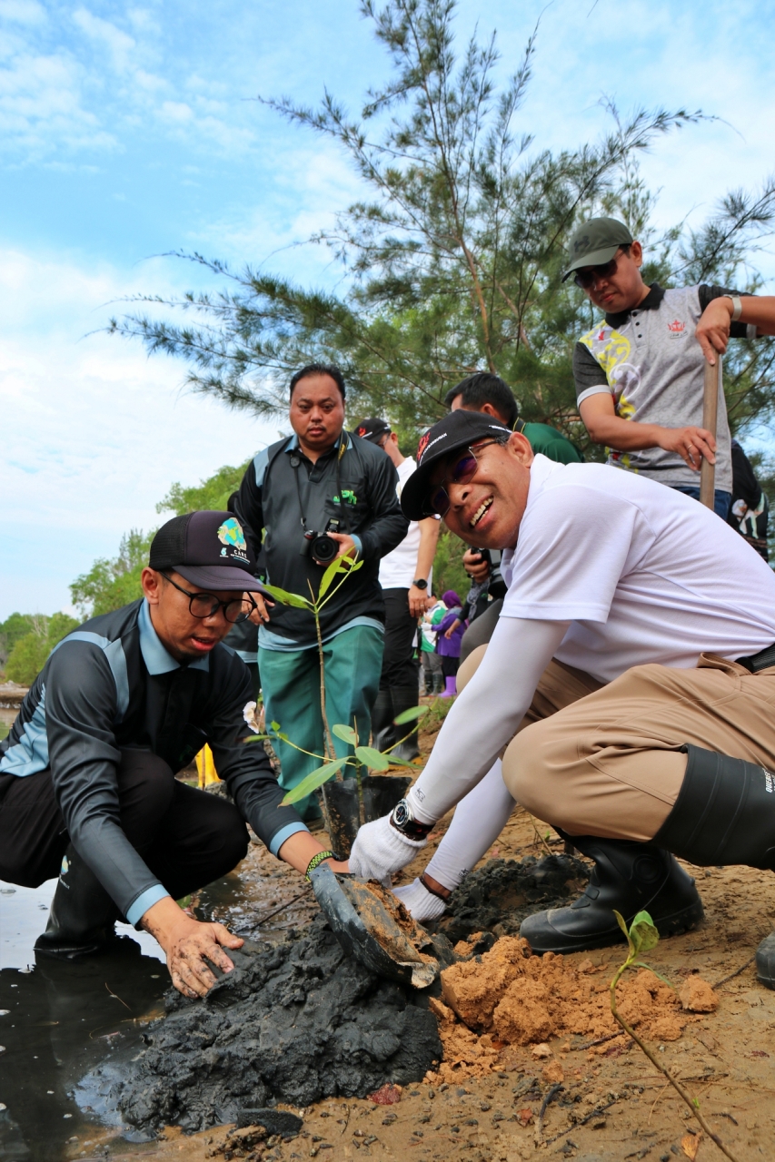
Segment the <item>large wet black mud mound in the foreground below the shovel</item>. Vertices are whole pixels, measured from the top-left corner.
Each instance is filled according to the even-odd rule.
[[[193,1132],[273,1100],[365,1097],[441,1060],[424,995],[348,960],[321,917],[304,937],[232,956],[234,973],[204,1000],[166,995],[115,1095],[129,1125]]]

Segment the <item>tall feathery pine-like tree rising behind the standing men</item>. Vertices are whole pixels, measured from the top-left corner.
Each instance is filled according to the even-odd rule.
[[[449,386],[490,368],[513,386],[526,419],[554,424],[599,454],[575,404],[573,347],[593,316],[582,293],[561,282],[569,232],[583,216],[614,214],[647,243],[648,279],[751,290],[760,285],[752,260],[772,230],[775,181],[756,195],[731,193],[699,230],[678,225],[657,237],[638,158],[701,113],[625,117],[607,102],[610,130],[597,142],[552,152],[522,124],[538,27],[498,87],[495,36],[456,51],[454,0],[363,0],[361,8],[392,73],[367,94],[360,117],[328,92],[314,109],[291,98],[266,102],[336,142],[362,179],[363,200],[314,239],[343,264],[346,293],[191,254],[223,289],[166,301],[171,321],[134,314],[113,330],[183,358],[194,389],[258,415],[284,409],[299,366],[335,361],[350,414],[386,414],[407,436],[443,414]],[[775,351],[767,342],[734,346],[726,382],[739,428],[769,418]]]

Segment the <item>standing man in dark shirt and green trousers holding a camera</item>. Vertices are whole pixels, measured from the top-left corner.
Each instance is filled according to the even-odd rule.
[[[320,629],[328,723],[355,723],[365,743],[384,650],[379,559],[400,544],[408,522],[398,504],[398,478],[390,459],[343,430],[340,370],[322,364],[303,367],[291,379],[290,397],[294,435],[256,456],[233,507],[255,548],[264,530],[272,586],[304,597],[312,590],[317,596],[330,559],[348,555],[363,562],[325,605]],[[328,557],[319,554],[320,533],[328,533],[323,544]],[[280,786],[290,790],[321,763],[315,758],[323,747],[315,625],[306,609],[276,604],[270,612],[261,596],[256,604],[266,722],[278,723],[296,744],[277,743]],[[340,758],[351,753],[341,739],[334,745]],[[299,808],[310,822],[320,817],[311,797]]]

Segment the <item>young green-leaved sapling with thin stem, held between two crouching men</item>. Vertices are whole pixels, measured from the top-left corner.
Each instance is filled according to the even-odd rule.
[[[323,723],[323,753],[318,754],[314,751],[306,751],[303,746],[298,746],[287,734],[283,732],[279,723],[271,722],[266,727],[265,733],[251,734],[246,741],[263,741],[264,739],[279,740],[285,743],[286,746],[293,747],[294,751],[300,751],[303,754],[308,754],[313,759],[320,760],[322,766],[317,767],[312,770],[301,782],[292,788],[285,795],[282,806],[287,806],[291,803],[298,803],[299,799],[306,798],[313,791],[317,791],[319,787],[328,782],[329,779],[336,777],[342,779],[342,770],[346,767],[353,767],[355,769],[355,777],[357,780],[358,788],[358,806],[361,813],[361,822],[363,823],[363,791],[361,783],[361,769],[365,767],[370,770],[388,770],[391,766],[412,766],[411,763],[403,762],[399,759],[394,759],[391,755],[391,751],[400,746],[410,734],[412,733],[412,727],[404,738],[398,739],[392,746],[388,747],[385,751],[377,751],[372,746],[362,746],[357,734],[357,725],[354,723],[353,726],[347,725],[347,723],[335,723],[333,726],[328,724],[328,716],[326,713],[326,665],[323,655],[323,643],[322,634],[320,631],[320,611],[323,605],[326,605],[330,598],[339,591],[339,589],[344,584],[344,581],[350,575],[360,569],[363,561],[351,560],[348,557],[339,557],[336,560],[332,561],[320,581],[320,587],[318,589],[318,595],[315,596],[312,584],[310,584],[310,596],[304,597],[297,593],[289,593],[286,589],[280,589],[278,586],[265,584],[264,589],[270,597],[278,601],[283,605],[294,605],[297,609],[307,609],[312,614],[315,623],[315,636],[318,639],[318,657],[320,660],[320,713],[322,716]],[[336,580],[339,578],[339,580]],[[257,730],[258,723],[256,718],[256,705],[249,702],[244,710],[244,718],[249,726]],[[418,718],[422,717],[427,712],[427,706],[411,706],[408,710],[404,710],[394,719],[394,724],[403,726],[406,724],[413,724]],[[344,755],[344,758],[337,758],[336,751],[334,748],[334,737],[347,743],[351,746],[354,754]]]

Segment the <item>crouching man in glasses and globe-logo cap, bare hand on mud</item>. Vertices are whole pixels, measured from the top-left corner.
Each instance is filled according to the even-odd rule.
[[[223,948],[242,941],[176,899],[240,862],[244,820],[292,867],[322,862],[278,805],[262,744],[244,741],[250,677],[220,644],[255,605],[254,573],[229,512],[173,517],[151,543],[144,596],[67,634],[24,697],[0,743],[0,878],[59,876],[37,953],[98,952],[123,917],[156,937],[176,988],[204,995],[205,957],[228,971]],[[234,803],[175,777],[205,743]]]

